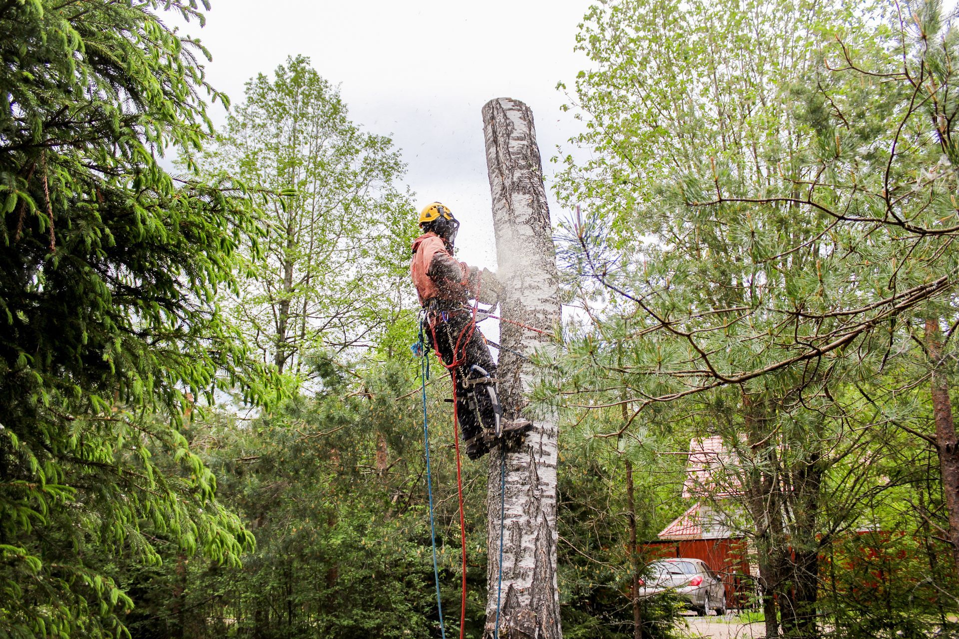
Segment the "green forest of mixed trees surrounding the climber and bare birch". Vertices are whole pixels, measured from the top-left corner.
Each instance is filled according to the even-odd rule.
[[[0,636],[440,636],[403,158],[300,56],[214,127],[209,52],[167,19],[207,10],[0,5]],[[955,632],[950,18],[622,0],[571,40],[580,152],[550,187],[573,310],[533,394],[563,419],[565,634],[682,631],[632,593],[703,437],[767,636]]]

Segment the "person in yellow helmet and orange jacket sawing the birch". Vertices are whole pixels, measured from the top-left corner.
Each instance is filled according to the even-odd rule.
[[[494,445],[518,443],[532,426],[527,420],[503,416],[496,362],[468,302],[475,299],[496,306],[502,285],[488,269],[480,272],[476,266],[456,262],[453,244],[459,222],[448,208],[439,202],[428,205],[420,213],[419,227],[423,235],[413,241],[409,274],[426,309],[424,323],[433,348],[455,384],[456,416],[466,455],[479,459]]]

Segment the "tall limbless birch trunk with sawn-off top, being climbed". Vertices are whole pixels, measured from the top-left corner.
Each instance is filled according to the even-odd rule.
[[[537,347],[549,348],[549,339],[543,333],[508,321],[543,331],[557,325],[559,276],[532,113],[524,103],[499,98],[482,107],[482,120],[499,277],[505,289],[498,377],[508,419],[526,406],[525,394],[536,373],[528,360],[512,352],[531,354]],[[532,431],[518,450],[504,457],[502,590],[498,587],[501,455],[494,450],[489,456],[489,597],[483,636],[492,637],[498,625],[500,636],[510,639],[560,639],[556,584],[558,429],[552,412],[526,416],[533,421]]]

